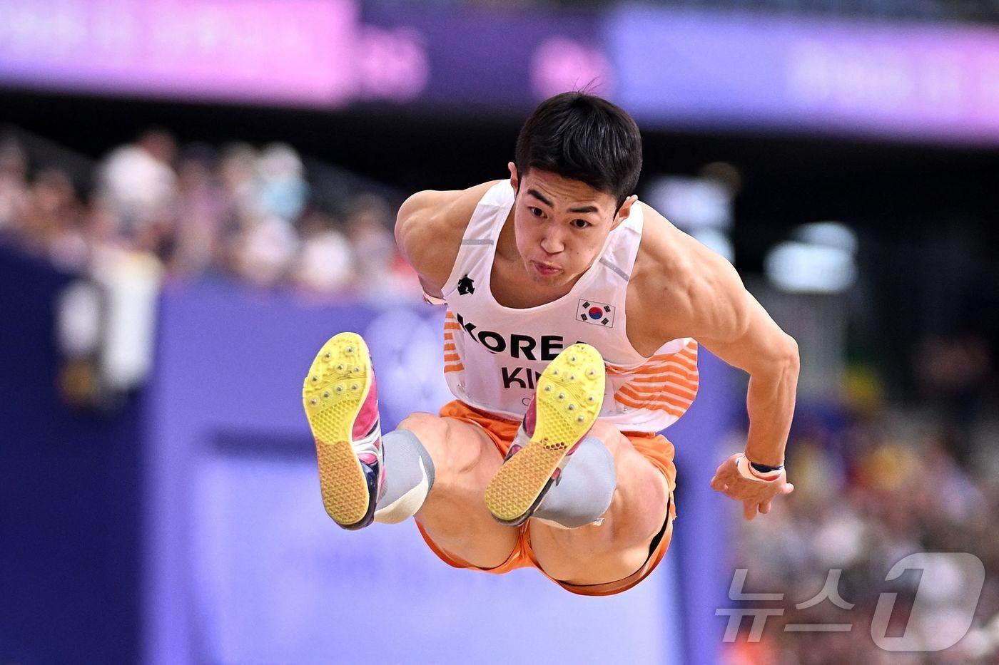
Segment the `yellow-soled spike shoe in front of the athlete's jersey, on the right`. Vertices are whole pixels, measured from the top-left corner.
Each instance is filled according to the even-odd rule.
[[[568,346],[537,379],[506,459],[486,487],[486,506],[501,524],[522,524],[557,483],[603,403],[603,358],[589,344]]]

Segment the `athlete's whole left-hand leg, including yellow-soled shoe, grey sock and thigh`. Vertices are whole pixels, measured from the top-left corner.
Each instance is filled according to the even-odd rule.
[[[509,557],[518,533],[497,524],[483,501],[502,459],[481,428],[414,413],[383,437],[375,371],[357,333],[323,345],[302,396],[323,504],[340,526],[416,515],[439,546],[473,565],[496,567]]]

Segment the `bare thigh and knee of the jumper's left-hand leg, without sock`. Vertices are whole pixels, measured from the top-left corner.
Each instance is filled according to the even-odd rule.
[[[499,524],[483,499],[502,464],[493,439],[477,424],[430,413],[414,413],[400,426],[413,430],[434,460],[434,486],[417,520],[449,553],[483,568],[500,565],[518,531]]]

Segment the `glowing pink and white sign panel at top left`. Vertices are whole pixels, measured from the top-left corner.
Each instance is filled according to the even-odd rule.
[[[0,82],[335,107],[355,95],[353,0],[0,0]]]

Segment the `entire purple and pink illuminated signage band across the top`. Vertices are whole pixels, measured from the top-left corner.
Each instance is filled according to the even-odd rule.
[[[0,0],[0,84],[522,117],[586,88],[645,127],[999,142],[999,30],[637,5]]]

